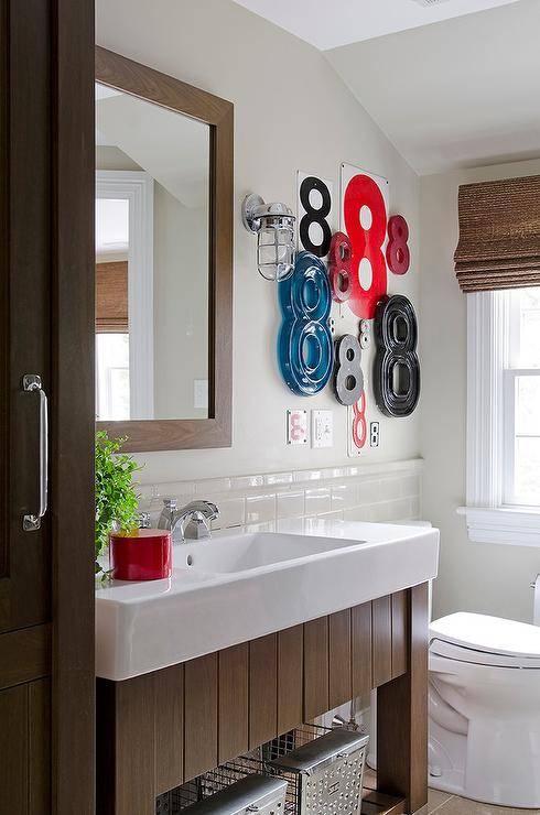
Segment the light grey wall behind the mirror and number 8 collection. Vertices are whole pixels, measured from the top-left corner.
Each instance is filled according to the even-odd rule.
[[[241,226],[247,192],[295,208],[295,172],[332,178],[342,161],[390,181],[391,208],[411,228],[412,270],[393,291],[418,296],[419,182],[325,57],[229,0],[97,0],[97,42],[235,104],[234,444],[231,449],[151,453],[145,481],[202,478],[348,463],[346,411],[330,391],[294,398],[276,365],[276,286],[255,265]],[[356,320],[357,325],[357,320]],[[349,329],[354,329],[350,320]],[[287,408],[334,410],[335,446],[288,447]],[[410,458],[419,423],[380,414],[381,447],[363,460]]]

